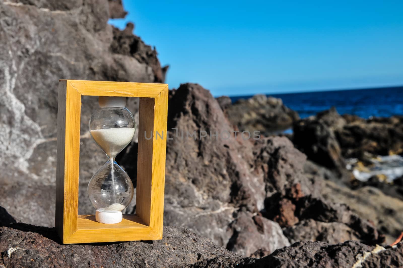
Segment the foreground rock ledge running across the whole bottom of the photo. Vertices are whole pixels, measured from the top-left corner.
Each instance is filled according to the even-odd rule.
[[[212,244],[183,227],[165,226],[162,240],[60,244],[55,228],[15,223],[0,207],[4,267],[401,267],[403,244],[368,246],[297,242],[255,259]],[[10,223],[11,222],[11,223]],[[262,252],[262,251],[260,251]],[[256,252],[255,254],[259,254]]]

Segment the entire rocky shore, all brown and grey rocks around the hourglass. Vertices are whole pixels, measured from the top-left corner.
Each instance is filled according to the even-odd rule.
[[[171,137],[197,135],[167,140],[164,238],[62,245],[53,228],[57,81],[163,82],[167,67],[133,24],[107,24],[125,16],[121,1],[0,2],[0,14],[0,266],[403,266],[402,244],[388,246],[402,231],[402,179],[362,182],[346,168],[352,157],[370,168],[378,155],[401,154],[403,117],[330,109],[300,119],[277,98],[232,104],[190,83],[169,93]],[[128,103],[138,119],[138,99]],[[105,160],[87,130],[96,105],[82,98],[79,214],[93,214],[87,184]],[[242,136],[255,130],[259,138]],[[133,184],[137,157],[134,139],[117,159]]]

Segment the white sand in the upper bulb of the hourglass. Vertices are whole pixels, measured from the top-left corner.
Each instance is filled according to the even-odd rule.
[[[114,158],[131,142],[134,131],[134,128],[106,128],[91,130],[90,132],[105,153]]]

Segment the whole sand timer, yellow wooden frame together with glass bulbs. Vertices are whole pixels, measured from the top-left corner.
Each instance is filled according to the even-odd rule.
[[[108,159],[86,189],[95,215],[78,214],[82,96],[101,96],[89,130]],[[138,130],[126,97],[139,98]],[[162,239],[167,114],[167,84],[59,80],[55,226],[63,243]],[[114,159],[134,132],[139,133],[137,163],[131,163],[137,165],[136,213],[122,216],[133,185]]]

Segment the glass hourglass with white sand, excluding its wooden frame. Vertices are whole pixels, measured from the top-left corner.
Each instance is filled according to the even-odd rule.
[[[125,107],[126,97],[100,96],[98,102],[100,108],[89,119],[89,132],[108,161],[91,178],[87,192],[97,222],[114,224],[122,221],[122,210],[133,198],[133,184],[115,157],[133,139],[135,121]]]

